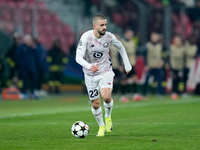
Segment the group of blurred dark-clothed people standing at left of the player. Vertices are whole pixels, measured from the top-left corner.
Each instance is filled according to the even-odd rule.
[[[1,51],[0,51],[1,52]],[[60,84],[68,57],[61,48],[61,40],[55,38],[49,50],[40,38],[29,34],[13,34],[12,45],[3,56],[0,53],[0,87],[15,87],[21,91],[22,99],[37,99],[46,96],[42,89],[48,74],[48,92],[60,93]],[[5,77],[5,72],[7,76]]]

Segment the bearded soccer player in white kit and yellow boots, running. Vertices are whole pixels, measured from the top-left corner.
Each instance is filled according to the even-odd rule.
[[[112,33],[106,32],[107,20],[104,16],[96,15],[93,18],[93,28],[93,30],[89,30],[81,36],[76,51],[76,61],[83,66],[85,83],[92,102],[92,113],[99,124],[97,136],[100,137],[105,135],[105,131],[111,132],[113,129],[111,120],[113,99],[111,93],[114,73],[109,55],[111,45],[117,47],[127,73],[131,71],[132,67],[124,46]],[[104,100],[106,125],[100,106],[100,94]]]

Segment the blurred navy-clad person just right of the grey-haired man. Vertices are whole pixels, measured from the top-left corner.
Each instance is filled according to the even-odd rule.
[[[45,70],[47,68],[47,50],[40,42],[40,38],[34,38],[36,52],[37,52],[37,87],[36,87],[36,95],[38,96],[47,96],[47,93],[42,90],[42,83],[44,80]]]

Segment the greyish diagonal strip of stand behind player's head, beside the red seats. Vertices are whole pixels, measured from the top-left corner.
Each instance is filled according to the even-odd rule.
[[[70,25],[73,31],[76,31],[76,41],[79,40],[80,35],[86,31],[90,30],[92,27],[91,17],[96,14],[102,14],[98,10],[97,1],[74,1],[74,0],[43,0],[46,2],[47,7],[51,12],[58,14],[59,18]],[[94,2],[94,4],[92,3]],[[89,5],[91,4],[91,6]],[[86,11],[90,9],[90,14],[88,15]],[[106,15],[108,21],[108,30],[111,32],[118,32],[123,35],[123,30],[116,23],[112,22],[111,16]],[[79,23],[77,23],[79,22]]]

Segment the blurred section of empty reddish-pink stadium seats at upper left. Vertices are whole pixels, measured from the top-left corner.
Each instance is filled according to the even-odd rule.
[[[45,2],[38,0],[0,0],[0,19],[2,28],[8,34],[14,32],[18,26],[18,18],[21,21],[22,34],[39,35],[47,49],[50,48],[53,39],[59,37],[63,43],[62,49],[69,54],[70,47],[75,42],[75,34],[71,27],[62,22],[56,13],[52,13]],[[36,21],[34,22],[34,19]],[[34,32],[34,26],[36,32]],[[66,44],[67,43],[67,44]]]

